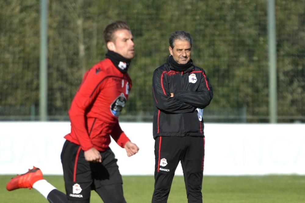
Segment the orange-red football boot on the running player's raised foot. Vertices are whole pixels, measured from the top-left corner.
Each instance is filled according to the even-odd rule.
[[[29,169],[27,173],[17,175],[13,177],[7,184],[6,189],[8,191],[16,190],[18,188],[29,188],[31,189],[33,184],[37,180],[42,180],[42,172],[39,168],[33,166],[33,169]]]

